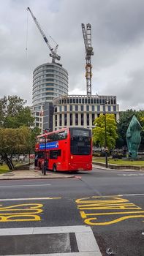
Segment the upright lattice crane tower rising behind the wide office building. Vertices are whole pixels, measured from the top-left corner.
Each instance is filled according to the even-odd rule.
[[[87,96],[91,96],[91,56],[94,55],[93,48],[91,46],[91,24],[85,25],[82,23],[83,39],[86,48],[86,87],[87,87]]]

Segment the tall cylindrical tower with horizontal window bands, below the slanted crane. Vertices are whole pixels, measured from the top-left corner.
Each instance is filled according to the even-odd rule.
[[[68,95],[68,72],[57,63],[42,64],[33,73],[32,105],[53,102],[59,96]]]

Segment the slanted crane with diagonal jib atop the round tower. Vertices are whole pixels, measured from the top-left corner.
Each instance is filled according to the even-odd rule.
[[[37,18],[35,18],[33,12],[31,12],[31,9],[29,7],[27,8],[27,10],[31,13],[31,16],[32,16],[34,22],[36,23],[37,28],[39,29],[40,34],[42,34],[43,39],[45,40],[46,44],[48,45],[48,48],[50,49],[50,57],[52,57],[52,62],[55,62],[56,59],[59,61],[61,59],[61,57],[58,56],[58,54],[56,53],[57,50],[58,50],[58,45],[56,45],[55,48],[51,47],[50,42],[48,42],[48,39],[47,39],[45,33],[42,31],[42,29],[41,29],[41,27],[40,27],[40,25],[39,25],[39,23],[37,21]],[[52,39],[52,37],[50,37],[50,38]],[[53,42],[55,42],[55,41],[53,40]]]

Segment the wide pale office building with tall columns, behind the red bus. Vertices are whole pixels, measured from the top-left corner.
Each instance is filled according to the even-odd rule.
[[[100,113],[113,113],[119,119],[116,96],[69,95],[53,100],[53,130],[63,127],[94,128]]]

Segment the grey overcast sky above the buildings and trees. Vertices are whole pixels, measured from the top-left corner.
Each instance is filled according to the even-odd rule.
[[[81,23],[91,23],[92,94],[116,95],[120,110],[144,109],[143,0],[0,2],[0,97],[16,94],[31,105],[32,73],[51,62],[48,46],[26,11],[30,7],[48,39],[50,35],[58,43],[60,63],[69,72],[69,94],[86,94]]]

